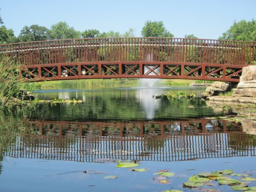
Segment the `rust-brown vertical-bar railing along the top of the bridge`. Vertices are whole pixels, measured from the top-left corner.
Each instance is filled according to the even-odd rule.
[[[246,66],[256,60],[256,41],[194,38],[85,38],[0,45],[25,66],[114,61],[213,63]]]

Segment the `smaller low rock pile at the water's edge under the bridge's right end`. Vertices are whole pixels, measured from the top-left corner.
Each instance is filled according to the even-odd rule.
[[[203,93],[201,97],[205,99],[209,96],[219,95],[228,91],[230,91],[230,86],[228,83],[216,81],[212,83],[210,87],[206,88],[205,93]]]

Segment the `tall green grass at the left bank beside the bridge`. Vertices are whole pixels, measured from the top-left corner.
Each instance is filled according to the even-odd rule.
[[[13,60],[6,54],[0,55],[0,106],[7,105],[24,87],[22,79],[18,78],[18,65]]]

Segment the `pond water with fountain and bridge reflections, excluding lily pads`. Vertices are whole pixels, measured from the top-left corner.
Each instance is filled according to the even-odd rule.
[[[132,88],[37,91],[42,103],[3,111],[0,191],[163,191],[183,188],[200,172],[233,169],[255,177],[255,136],[243,124],[217,119],[232,111],[213,109],[200,98],[173,101],[152,96],[202,88]],[[136,161],[147,172],[117,168]],[[154,175],[175,172],[160,184]],[[87,173],[83,173],[88,170]],[[104,176],[117,175],[114,180]],[[240,178],[240,177],[234,177]],[[228,185],[204,186],[231,191]],[[249,186],[255,186],[255,182]]]

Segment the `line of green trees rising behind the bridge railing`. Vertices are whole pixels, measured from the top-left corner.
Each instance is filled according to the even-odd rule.
[[[18,36],[14,35],[12,29],[7,29],[0,16],[0,44],[9,44],[13,42],[27,42],[51,39],[69,39],[69,38],[96,38],[96,37],[135,37],[134,29],[130,28],[121,34],[117,31],[100,32],[97,29],[88,29],[77,31],[66,22],[59,22],[50,27],[50,29],[31,25],[25,26]],[[147,20],[141,31],[142,37],[174,37],[172,33],[165,29],[163,22]],[[185,35],[185,38],[198,38],[194,34]],[[256,22],[252,19],[249,22],[241,20],[234,24],[223,33],[219,39],[226,40],[244,40],[256,41]]]

